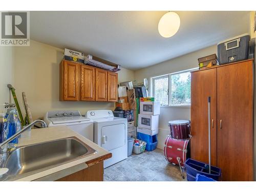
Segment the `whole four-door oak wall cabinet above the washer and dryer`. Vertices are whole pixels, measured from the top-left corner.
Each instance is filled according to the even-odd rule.
[[[117,102],[117,83],[117,73],[68,60],[60,62],[60,101]]]

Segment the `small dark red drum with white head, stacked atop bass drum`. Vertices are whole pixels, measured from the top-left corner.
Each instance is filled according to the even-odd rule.
[[[175,139],[190,139],[190,121],[189,120],[173,120],[169,121],[170,136]]]

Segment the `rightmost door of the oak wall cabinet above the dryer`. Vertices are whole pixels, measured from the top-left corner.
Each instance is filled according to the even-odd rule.
[[[117,102],[117,78],[117,73],[108,72],[108,101]]]

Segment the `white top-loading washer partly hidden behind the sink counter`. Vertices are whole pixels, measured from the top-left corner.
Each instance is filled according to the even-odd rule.
[[[77,110],[48,111],[44,121],[48,127],[66,125],[74,132],[93,141],[93,120],[82,117]]]

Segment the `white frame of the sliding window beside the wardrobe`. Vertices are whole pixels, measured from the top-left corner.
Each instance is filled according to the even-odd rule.
[[[155,80],[156,79],[161,79],[161,78],[166,78],[168,77],[168,105],[161,105],[161,107],[163,108],[190,108],[191,103],[189,105],[172,105],[171,99],[172,99],[172,75],[177,75],[177,74],[181,74],[181,73],[187,73],[187,72],[191,72],[194,70],[197,70],[198,68],[192,68],[192,69],[188,69],[188,70],[183,70],[183,71],[178,71],[178,72],[174,72],[174,73],[169,73],[169,74],[165,74],[165,75],[159,75],[159,76],[155,76],[155,77],[151,77],[151,96],[155,97]],[[190,76],[191,78],[191,76]]]

